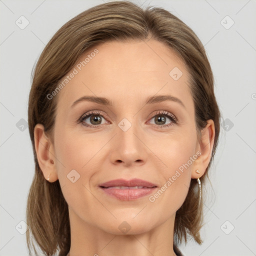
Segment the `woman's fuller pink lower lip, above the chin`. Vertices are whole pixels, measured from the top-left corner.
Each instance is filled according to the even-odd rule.
[[[116,197],[119,200],[135,200],[142,196],[152,193],[155,188],[137,188],[137,189],[120,189],[120,188],[102,188],[106,194]]]

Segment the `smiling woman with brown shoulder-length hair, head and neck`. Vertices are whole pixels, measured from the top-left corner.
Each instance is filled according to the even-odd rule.
[[[219,118],[203,45],[176,16],[115,1],[69,20],[29,95],[30,254],[34,241],[60,256],[182,255],[188,236],[200,244]]]

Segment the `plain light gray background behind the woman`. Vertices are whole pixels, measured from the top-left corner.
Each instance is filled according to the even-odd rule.
[[[0,255],[28,254],[20,221],[34,173],[26,123],[32,67],[61,25],[103,2],[0,0]],[[225,120],[204,204],[204,242],[180,249],[189,256],[256,255],[256,1],[133,2],[166,8],[194,30],[207,51]],[[22,15],[29,22],[23,29]]]

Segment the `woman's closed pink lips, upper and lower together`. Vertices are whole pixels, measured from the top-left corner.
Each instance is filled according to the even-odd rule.
[[[116,188],[116,186],[124,186],[126,188]],[[130,188],[134,186],[143,186],[142,188]],[[142,179],[114,179],[102,184],[99,187],[107,194],[119,200],[135,200],[152,193],[157,186],[149,181]]]

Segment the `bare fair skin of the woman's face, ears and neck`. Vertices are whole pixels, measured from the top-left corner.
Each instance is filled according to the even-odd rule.
[[[214,123],[208,120],[197,139],[188,72],[174,51],[161,42],[112,41],[96,48],[95,57],[58,92],[52,136],[45,134],[41,124],[34,129],[43,175],[47,179],[50,173],[49,182],[59,179],[68,204],[70,256],[175,255],[175,212],[191,178],[202,176],[209,163]],[[178,80],[169,75],[173,67],[183,73]],[[169,100],[145,105],[148,96],[160,94],[179,98],[184,107]],[[81,101],[71,107],[85,95],[106,97],[112,106]],[[101,122],[93,123],[89,117],[83,121],[99,123],[96,128],[76,122],[90,110],[105,114]],[[172,113],[178,122],[166,117],[157,123],[155,115],[162,116],[157,110]],[[127,131],[118,126],[123,118],[131,123]],[[160,127],[171,122],[171,126]],[[118,200],[98,187],[116,178],[141,178],[161,187],[196,151],[201,155],[154,202],[148,195]],[[72,169],[80,175],[74,183],[67,178]],[[126,233],[118,228],[123,221],[130,226]]]

